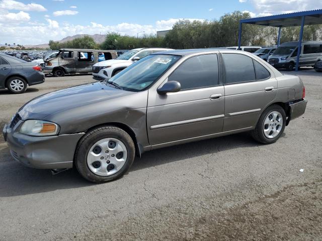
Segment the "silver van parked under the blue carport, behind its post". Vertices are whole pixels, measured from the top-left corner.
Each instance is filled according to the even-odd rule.
[[[296,64],[298,42],[281,44],[268,58],[268,62],[275,68],[292,71]],[[304,41],[301,45],[299,59],[300,67],[312,67],[316,61],[322,59],[322,41]]]

